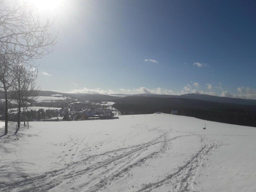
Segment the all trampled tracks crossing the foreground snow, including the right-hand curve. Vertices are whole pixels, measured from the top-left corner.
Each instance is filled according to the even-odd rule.
[[[133,126],[133,128],[147,129],[147,126],[137,124]],[[86,176],[90,177],[89,182],[80,184],[79,188],[70,189],[72,189],[72,191],[84,192],[100,191],[106,189],[108,185],[114,184],[120,179],[129,176],[132,169],[142,166],[149,159],[157,158],[159,155],[165,154],[172,140],[181,137],[195,136],[201,143],[199,151],[195,152],[182,166],[177,167],[163,179],[141,184],[141,188],[135,189],[137,192],[162,191],[162,187],[168,186],[169,191],[174,192],[195,191],[193,185],[195,184],[194,180],[198,175],[198,170],[207,163],[207,156],[223,144],[206,137],[206,135],[190,132],[181,132],[184,135],[169,138],[169,133],[172,130],[162,130],[158,128],[159,127],[154,127],[148,130],[160,134],[150,142],[119,148],[102,154],[87,155],[84,159],[69,163],[64,168],[58,170],[45,172],[35,177],[25,178],[15,182],[0,183],[0,189],[1,191],[44,192]],[[80,143],[85,139],[87,138],[84,138]],[[92,143],[90,146],[86,146],[86,151],[111,139],[112,137],[109,136],[105,140]],[[147,148],[152,146],[155,146],[155,151],[147,153]],[[78,151],[81,150],[81,146],[78,146],[74,153],[78,153]]]

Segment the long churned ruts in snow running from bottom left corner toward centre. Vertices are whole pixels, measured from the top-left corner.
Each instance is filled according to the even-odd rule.
[[[47,191],[51,188],[54,188],[55,186],[59,185],[62,183],[64,180],[70,179],[70,178],[75,178],[80,175],[84,175],[90,172],[93,172],[97,169],[102,168],[103,166],[108,166],[111,163],[118,161],[120,159],[129,159],[130,155],[134,155],[137,152],[141,152],[145,148],[162,143],[165,141],[159,141],[162,137],[164,137],[167,133],[161,134],[160,136],[156,137],[154,140],[140,144],[140,145],[134,145],[132,147],[127,147],[127,148],[121,148],[109,152],[105,152],[103,154],[99,155],[93,155],[89,156],[85,159],[82,159],[81,161],[78,162],[73,162],[72,164],[68,164],[67,167],[61,168],[58,170],[53,170],[46,172],[44,174],[38,175],[36,177],[32,178],[27,178],[24,180],[16,181],[16,182],[11,182],[11,183],[2,183],[0,184],[0,189],[4,191]],[[175,137],[177,138],[177,137]],[[173,138],[173,139],[175,139]],[[172,139],[171,139],[172,140]],[[88,161],[94,161],[97,157],[106,157],[110,154],[115,154],[117,152],[120,152],[121,154],[111,156],[110,158],[106,158],[105,160],[101,162],[96,162],[92,165],[87,166],[86,168],[82,168],[87,165]],[[143,160],[144,161],[144,160]],[[135,165],[133,165],[135,166]],[[77,170],[77,168],[81,168],[79,171],[74,171]]]

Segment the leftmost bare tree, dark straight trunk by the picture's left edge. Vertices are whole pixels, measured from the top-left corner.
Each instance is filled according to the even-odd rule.
[[[5,133],[8,133],[8,103],[12,100],[7,91],[12,86],[13,81],[14,77],[10,65],[5,56],[0,55],[0,92],[5,95]]]

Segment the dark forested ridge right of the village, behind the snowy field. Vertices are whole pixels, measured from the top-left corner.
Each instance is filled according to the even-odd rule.
[[[195,117],[208,121],[256,127],[256,106],[230,103],[208,102],[195,99],[170,98],[129,98],[116,103],[114,108],[122,115],[171,113],[177,110],[179,115]]]

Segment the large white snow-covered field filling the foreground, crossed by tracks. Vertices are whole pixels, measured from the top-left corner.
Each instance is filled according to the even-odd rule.
[[[29,125],[1,128],[0,191],[256,191],[255,127],[170,114]]]

